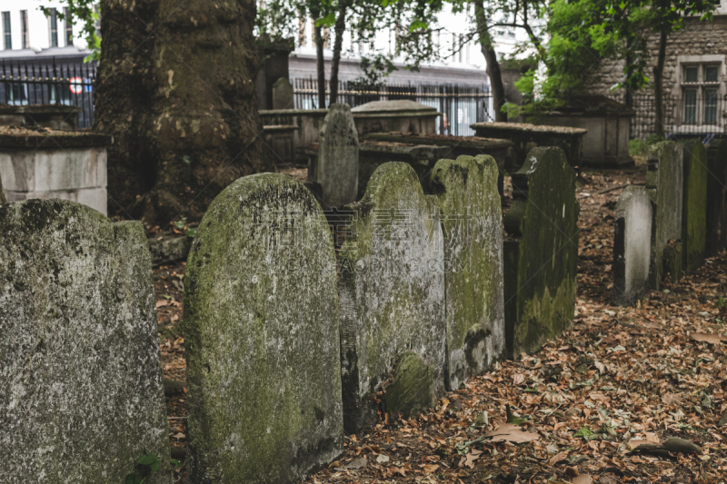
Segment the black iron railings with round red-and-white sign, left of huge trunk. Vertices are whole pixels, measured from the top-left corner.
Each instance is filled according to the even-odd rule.
[[[96,63],[0,61],[0,100],[4,104],[62,104],[80,107],[78,127],[94,123]]]

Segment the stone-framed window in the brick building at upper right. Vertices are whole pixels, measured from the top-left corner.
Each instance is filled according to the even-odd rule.
[[[716,124],[720,99],[720,64],[682,65],[685,124]]]

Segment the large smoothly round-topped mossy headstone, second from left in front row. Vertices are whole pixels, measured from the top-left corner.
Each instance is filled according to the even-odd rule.
[[[318,202],[284,174],[210,205],[184,281],[195,483],[288,483],[343,450],[335,254]]]

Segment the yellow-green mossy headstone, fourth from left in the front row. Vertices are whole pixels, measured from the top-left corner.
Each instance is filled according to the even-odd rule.
[[[444,237],[447,387],[456,390],[504,351],[503,223],[492,156],[434,165]]]

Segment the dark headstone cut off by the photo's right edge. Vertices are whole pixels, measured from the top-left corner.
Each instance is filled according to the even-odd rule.
[[[727,241],[727,140],[712,140],[707,150],[707,246],[713,257]]]

